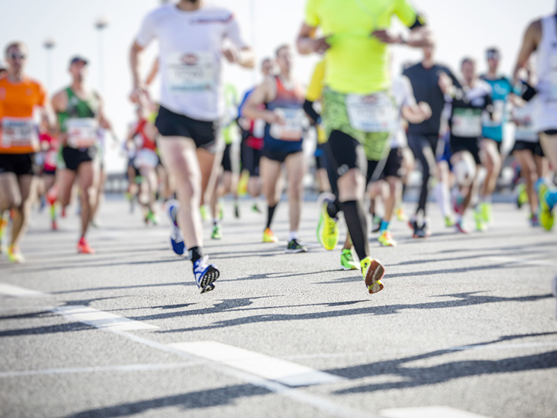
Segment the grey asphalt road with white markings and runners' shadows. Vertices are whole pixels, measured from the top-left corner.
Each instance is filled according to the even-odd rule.
[[[285,203],[276,245],[248,202],[227,208],[205,295],[166,219],[107,201],[86,256],[73,210],[57,232],[34,214],[27,263],[0,256],[0,416],[554,418],[556,232],[501,204],[491,231],[457,235],[430,207],[431,238],[402,222],[398,247],[372,238],[376,295],[317,245],[311,202],[295,255]]]

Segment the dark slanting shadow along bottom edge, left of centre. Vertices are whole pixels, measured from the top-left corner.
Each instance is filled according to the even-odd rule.
[[[137,415],[141,412],[157,410],[159,408],[178,407],[182,410],[211,408],[214,406],[234,405],[238,398],[262,396],[270,392],[262,387],[249,384],[205,389],[200,392],[152,398],[146,401],[120,403],[118,405],[95,408],[68,415],[67,418],[112,418]],[[163,415],[164,416],[164,415]]]

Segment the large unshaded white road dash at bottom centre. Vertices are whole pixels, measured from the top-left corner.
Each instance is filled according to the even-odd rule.
[[[244,348],[229,346],[217,341],[173,343],[171,347],[290,387],[322,385],[344,380],[339,376],[317,371],[301,364],[244,350]]]

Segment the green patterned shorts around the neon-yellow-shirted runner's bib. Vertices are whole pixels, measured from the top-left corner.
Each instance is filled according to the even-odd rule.
[[[386,158],[389,155],[389,146],[387,145],[391,132],[362,132],[354,129],[350,125],[345,100],[345,94],[336,93],[329,88],[325,88],[323,91],[323,112],[321,116],[327,138],[331,135],[331,132],[338,130],[356,139],[366,151],[368,160],[379,161]],[[395,106],[394,100],[393,106]]]

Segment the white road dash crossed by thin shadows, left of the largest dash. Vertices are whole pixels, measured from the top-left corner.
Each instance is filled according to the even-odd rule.
[[[70,320],[77,320],[81,323],[101,329],[107,328],[109,330],[134,331],[155,330],[158,328],[156,325],[150,325],[148,323],[139,322],[138,320],[109,314],[109,312],[99,311],[84,305],[65,305],[52,309],[52,312]]]

